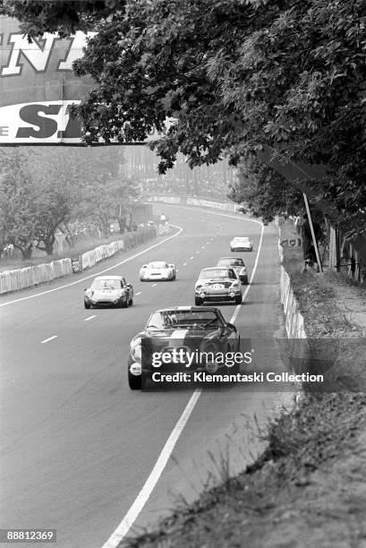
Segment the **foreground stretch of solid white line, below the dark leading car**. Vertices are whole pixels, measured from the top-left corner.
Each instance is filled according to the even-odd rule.
[[[157,481],[162,475],[166,463],[169,460],[176,442],[179,440],[181,433],[185,424],[187,424],[188,419],[192,415],[192,411],[200,398],[201,390],[195,390],[188,401],[183,414],[178,419],[178,422],[174,426],[173,432],[170,434],[166,441],[166,445],[161,451],[160,455],[157,458],[155,467],[151,470],[151,473],[143,485],[141,491],[137,495],[135,501],[132,504],[132,507],[128,510],[127,514],[124,516],[123,520],[119,526],[115,529],[114,533],[110,535],[103,548],[116,548],[118,544],[121,543],[123,537],[127,535],[128,531],[132,527],[133,523],[138,518],[141,509],[145,506],[146,502],[149,500],[149,496],[153,491]]]

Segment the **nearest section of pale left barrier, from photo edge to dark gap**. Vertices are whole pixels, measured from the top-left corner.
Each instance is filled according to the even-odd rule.
[[[0,294],[35,286],[72,273],[72,260],[60,259],[37,266],[0,272]]]

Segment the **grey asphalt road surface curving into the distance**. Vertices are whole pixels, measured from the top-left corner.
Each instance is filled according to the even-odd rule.
[[[239,253],[250,277],[258,261],[243,305],[223,304],[221,311],[227,321],[236,315],[243,338],[285,336],[276,228],[264,227],[262,235],[260,223],[240,215],[159,205],[161,210],[183,228],[166,242],[0,298],[0,528],[52,527],[57,546],[100,548],[116,528],[117,534],[126,529],[123,518],[130,510],[129,534],[140,531],[175,501],[191,501],[203,484],[225,475],[223,460],[229,459],[232,473],[243,469],[260,450],[256,422],[265,424],[288,398],[239,387],[203,390],[193,400],[192,390],[129,390],[131,338],[151,311],[194,304],[197,274],[231,254],[233,235],[249,235],[254,242],[252,253]],[[140,266],[153,260],[174,262],[176,281],[140,282]],[[132,282],[131,308],[84,309],[85,278],[106,269]],[[268,352],[272,369],[283,369]],[[167,448],[167,462],[149,477],[189,402],[172,454]],[[148,477],[144,504],[141,489]],[[106,545],[115,545],[117,537]]]

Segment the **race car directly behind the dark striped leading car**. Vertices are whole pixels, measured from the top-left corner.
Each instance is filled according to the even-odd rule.
[[[232,268],[214,267],[203,269],[196,281],[194,302],[229,301],[242,303],[242,287]]]

